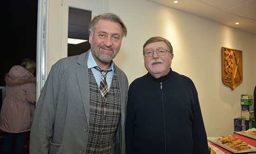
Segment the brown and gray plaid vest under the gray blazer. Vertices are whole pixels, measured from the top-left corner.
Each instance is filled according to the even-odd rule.
[[[90,122],[86,154],[116,154],[115,135],[121,115],[121,94],[116,70],[106,99],[89,69]]]

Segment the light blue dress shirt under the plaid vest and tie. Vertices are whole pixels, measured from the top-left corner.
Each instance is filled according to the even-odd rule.
[[[96,79],[96,82],[98,84],[98,87],[100,86],[100,79],[101,79],[101,72],[96,70],[94,67],[98,66],[98,64],[95,62],[94,58],[92,57],[91,49],[89,52],[88,60],[87,60],[87,66],[89,69],[92,69],[92,73]],[[99,67],[99,66],[98,66]],[[106,82],[108,85],[108,90],[110,89],[112,78],[114,75],[114,69],[113,69],[113,61],[111,61],[110,67],[107,69],[109,72],[106,75]]]

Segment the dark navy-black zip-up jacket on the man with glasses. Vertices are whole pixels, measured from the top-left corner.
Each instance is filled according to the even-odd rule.
[[[190,78],[170,69],[158,79],[149,73],[128,92],[126,154],[208,154],[197,90]]]

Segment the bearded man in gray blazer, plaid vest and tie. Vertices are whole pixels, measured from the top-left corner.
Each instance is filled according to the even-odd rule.
[[[91,49],[52,66],[39,97],[30,154],[124,154],[128,80],[113,62],[127,34],[113,13],[92,19]]]

